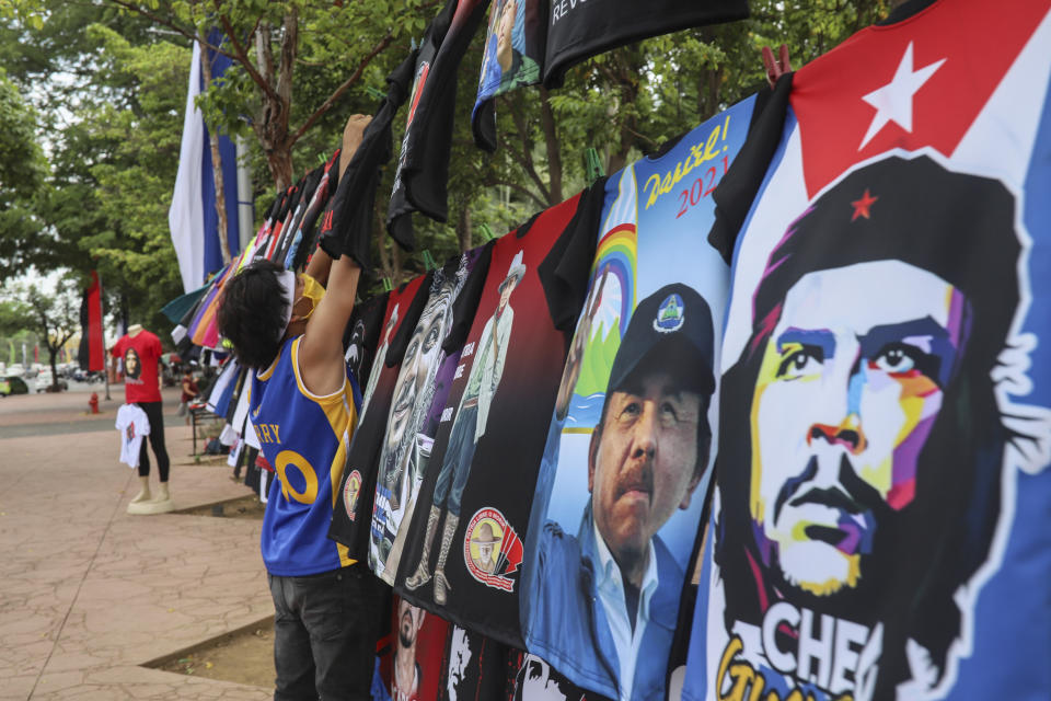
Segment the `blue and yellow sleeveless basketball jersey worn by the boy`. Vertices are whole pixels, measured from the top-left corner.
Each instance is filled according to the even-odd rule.
[[[328,539],[358,392],[350,374],[343,389],[319,397],[299,372],[302,336],[286,341],[270,367],[252,379],[250,411],[263,455],[274,466],[261,538],[270,574],[302,576],[354,564],[346,547]]]

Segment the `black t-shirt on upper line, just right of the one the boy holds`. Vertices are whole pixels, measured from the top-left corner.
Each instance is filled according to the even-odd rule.
[[[411,227],[405,227],[407,209],[444,221],[448,216],[449,156],[455,113],[457,77],[478,25],[485,18],[488,0],[449,0],[432,23],[417,61],[409,122],[402,143],[395,195],[404,188],[405,205],[392,211],[390,220],[401,216],[391,235],[409,248]],[[447,31],[441,31],[448,23]],[[405,233],[408,237],[405,237]]]

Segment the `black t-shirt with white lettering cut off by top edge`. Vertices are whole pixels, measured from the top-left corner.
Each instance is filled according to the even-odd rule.
[[[544,84],[586,58],[650,36],[748,16],[747,0],[552,0]]]

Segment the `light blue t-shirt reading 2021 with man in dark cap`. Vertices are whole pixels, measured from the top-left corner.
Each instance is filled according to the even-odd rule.
[[[573,683],[665,698],[684,571],[711,479],[729,269],[712,192],[755,97],[610,176],[584,313],[536,482],[526,647]]]

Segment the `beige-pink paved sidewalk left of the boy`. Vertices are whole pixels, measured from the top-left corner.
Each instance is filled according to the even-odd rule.
[[[164,398],[174,414],[177,390]],[[82,393],[0,400],[0,699],[269,699],[140,666],[274,609],[258,521],[126,513],[137,473],[117,461],[116,430],[97,429],[117,406],[100,417]],[[51,422],[61,433],[16,430]],[[181,422],[165,433],[176,507],[247,494],[224,463],[192,463]]]

